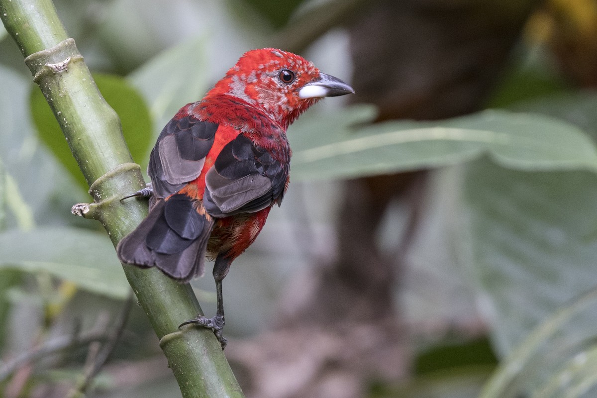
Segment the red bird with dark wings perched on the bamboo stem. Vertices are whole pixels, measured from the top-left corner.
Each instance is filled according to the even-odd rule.
[[[222,280],[282,202],[291,156],[286,130],[319,98],[349,93],[350,85],[296,54],[252,50],[164,127],[147,168],[149,215],[117,251],[123,263],[156,266],[181,282],[204,273],[206,254],[216,259],[216,316],[182,325],[212,329],[226,345]]]

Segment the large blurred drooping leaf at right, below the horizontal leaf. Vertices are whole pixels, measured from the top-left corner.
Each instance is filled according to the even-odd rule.
[[[595,286],[597,176],[515,171],[485,160],[467,165],[463,181],[467,217],[451,236],[504,355]]]

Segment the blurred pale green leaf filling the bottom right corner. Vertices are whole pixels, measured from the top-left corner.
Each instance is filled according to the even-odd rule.
[[[498,367],[479,398],[594,397],[597,291],[541,323]]]

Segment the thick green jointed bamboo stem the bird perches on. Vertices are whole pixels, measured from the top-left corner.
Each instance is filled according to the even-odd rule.
[[[118,115],[101,97],[51,0],[0,0],[0,19],[26,57],[90,184],[94,202],[85,206],[84,217],[99,220],[116,245],[147,215],[142,201],[119,201],[143,187],[144,181],[122,137]],[[205,329],[178,329],[181,322],[201,313],[190,286],[156,269],[123,267],[182,396],[243,397],[214,335]]]

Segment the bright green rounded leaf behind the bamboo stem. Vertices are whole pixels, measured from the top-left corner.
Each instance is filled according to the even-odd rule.
[[[122,134],[135,159],[144,159],[152,143],[152,118],[143,97],[119,76],[95,74],[94,80],[107,103],[118,113]],[[85,190],[87,182],[64,140],[64,135],[45,101],[44,95],[35,87],[30,99],[33,122],[41,141],[54,153],[70,174]],[[60,117],[60,115],[59,115]]]

